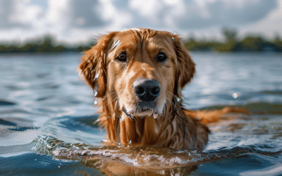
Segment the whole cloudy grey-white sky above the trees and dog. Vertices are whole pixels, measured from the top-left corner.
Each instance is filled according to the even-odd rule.
[[[282,0],[0,0],[0,42],[25,42],[52,34],[82,43],[99,34],[149,27],[202,39],[282,36]]]

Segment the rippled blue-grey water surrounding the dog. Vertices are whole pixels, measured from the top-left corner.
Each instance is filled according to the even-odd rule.
[[[0,55],[0,175],[282,175],[281,54],[192,53],[186,108],[251,113],[209,125],[204,151],[102,146],[80,56]]]

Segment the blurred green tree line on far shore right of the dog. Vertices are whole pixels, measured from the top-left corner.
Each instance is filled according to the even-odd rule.
[[[225,42],[197,40],[190,37],[190,39],[185,40],[185,46],[190,51],[282,51],[282,40],[279,34],[275,35],[273,41],[255,35],[249,35],[239,40],[237,37],[238,31],[231,28],[224,28],[222,34]]]

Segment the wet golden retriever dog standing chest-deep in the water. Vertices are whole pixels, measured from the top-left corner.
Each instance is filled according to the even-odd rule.
[[[98,98],[98,121],[109,142],[187,150],[207,144],[208,127],[181,103],[195,63],[178,35],[143,28],[110,32],[81,60],[78,72]]]

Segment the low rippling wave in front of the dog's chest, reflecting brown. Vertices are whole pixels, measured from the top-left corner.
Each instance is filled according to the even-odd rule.
[[[223,158],[240,156],[245,153],[258,153],[273,156],[281,153],[282,147],[272,144],[252,144],[235,147],[221,147],[206,151],[185,151],[152,146],[90,146],[71,144],[51,136],[39,136],[31,145],[39,153],[63,160],[83,161],[100,168],[106,163],[118,163],[137,168],[183,168],[199,163],[217,161]]]

